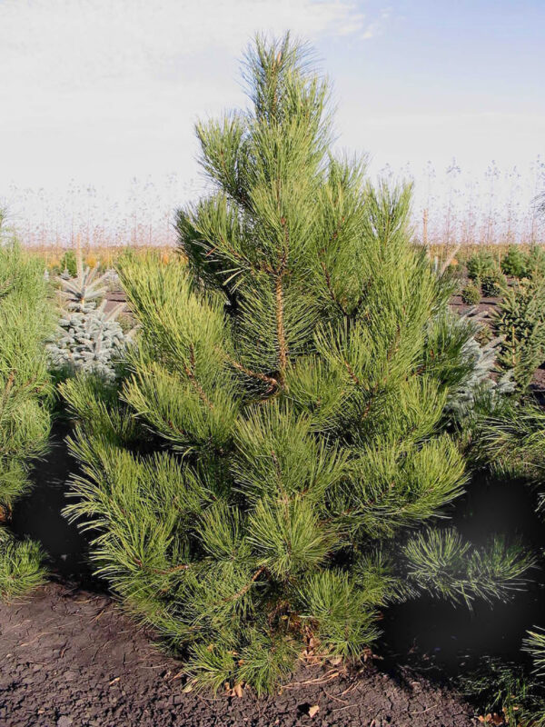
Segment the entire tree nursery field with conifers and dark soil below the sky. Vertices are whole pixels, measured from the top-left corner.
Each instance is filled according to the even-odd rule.
[[[0,215],[0,724],[545,725],[545,247],[418,244],[311,61],[172,248]]]

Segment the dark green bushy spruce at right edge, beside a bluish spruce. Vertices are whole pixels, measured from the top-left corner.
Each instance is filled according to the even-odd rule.
[[[545,280],[521,280],[504,290],[494,328],[503,341],[500,364],[521,391],[545,360]]]

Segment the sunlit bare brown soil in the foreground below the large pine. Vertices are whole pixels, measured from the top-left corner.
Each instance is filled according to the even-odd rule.
[[[339,677],[302,668],[281,693],[257,700],[184,693],[182,664],[154,646],[103,594],[49,583],[0,606],[0,724],[5,727],[466,727],[455,693],[407,669],[365,665]],[[310,683],[301,683],[310,682]],[[309,716],[309,708],[319,711]]]

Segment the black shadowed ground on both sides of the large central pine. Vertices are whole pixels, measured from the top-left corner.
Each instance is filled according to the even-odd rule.
[[[80,533],[62,514],[68,479],[77,472],[64,442],[68,433],[67,423],[54,423],[50,452],[35,468],[32,491],[17,503],[12,527],[20,537],[42,543],[57,580],[106,592],[106,584],[93,576],[88,561],[89,533]],[[539,553],[545,546],[545,527],[534,504],[524,483],[500,482],[480,474],[452,511],[450,523],[476,545],[498,533],[520,537]],[[522,639],[527,629],[540,624],[545,612],[543,573],[536,570],[532,577],[535,581],[515,593],[509,603],[476,601],[470,611],[462,603],[453,607],[422,597],[386,609],[383,636],[374,649],[383,657],[381,668],[400,683],[406,682],[407,665],[430,680],[444,682],[477,664],[485,654],[522,662]]]

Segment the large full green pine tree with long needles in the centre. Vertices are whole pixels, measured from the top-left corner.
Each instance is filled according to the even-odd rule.
[[[121,399],[63,391],[97,572],[197,683],[263,692],[302,654],[360,656],[392,601],[502,596],[528,563],[410,534],[463,491],[441,422],[468,366],[451,327],[431,337],[451,287],[411,245],[410,187],[332,155],[328,85],[289,36],[245,78],[251,111],[197,125],[215,191],[178,214],[187,264],[120,264]]]

